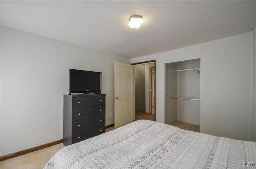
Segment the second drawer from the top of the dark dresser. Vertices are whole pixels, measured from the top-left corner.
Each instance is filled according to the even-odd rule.
[[[85,118],[105,116],[105,106],[96,106],[88,108],[78,108],[72,110],[72,121],[82,120]]]

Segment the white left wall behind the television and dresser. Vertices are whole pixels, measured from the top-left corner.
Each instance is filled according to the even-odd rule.
[[[1,27],[1,156],[63,138],[63,94],[68,93],[70,68],[102,72],[106,125],[113,124],[109,116],[114,112],[114,61],[130,63],[127,58]]]

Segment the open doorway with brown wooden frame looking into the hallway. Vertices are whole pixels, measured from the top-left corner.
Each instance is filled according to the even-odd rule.
[[[156,121],[156,60],[134,65],[134,120]]]

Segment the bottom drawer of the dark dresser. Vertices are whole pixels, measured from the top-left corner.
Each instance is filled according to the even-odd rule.
[[[97,136],[97,135],[102,134],[102,133],[105,133],[105,126],[104,125],[97,126],[97,127],[94,127],[94,128],[90,128],[90,129],[87,129],[87,130],[83,130],[83,131],[80,131],[80,132],[74,132],[72,134],[72,144],[77,143],[77,142],[82,141],[82,140],[86,140],[86,139],[94,137],[94,136]]]

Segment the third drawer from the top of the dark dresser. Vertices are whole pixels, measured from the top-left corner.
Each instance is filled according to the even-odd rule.
[[[86,118],[83,120],[76,120],[72,122],[72,132],[78,132],[87,128],[92,129],[96,126],[104,126],[105,117],[96,116],[92,118]]]

